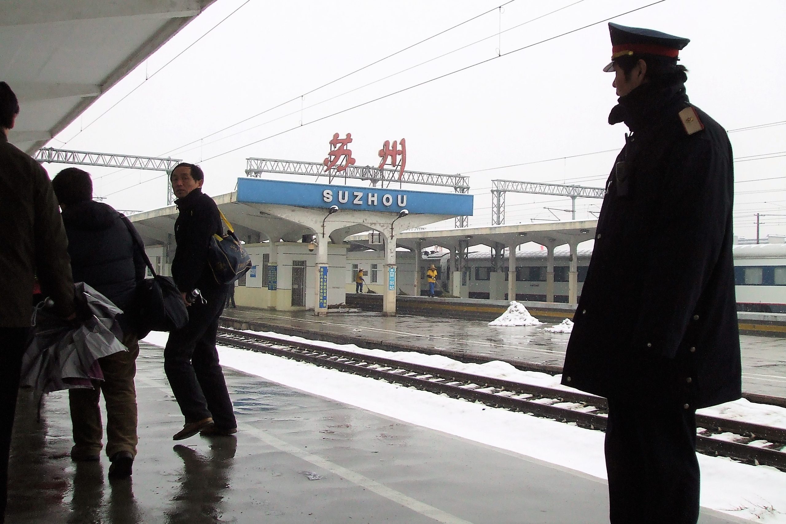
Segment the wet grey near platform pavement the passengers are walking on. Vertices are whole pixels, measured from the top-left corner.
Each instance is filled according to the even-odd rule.
[[[225,372],[240,431],[178,444],[163,350],[144,345],[134,476],[112,482],[105,456],[68,457],[67,394],[50,394],[37,422],[37,399],[23,393],[6,522],[608,522],[597,478]],[[700,522],[744,521],[703,511]]]

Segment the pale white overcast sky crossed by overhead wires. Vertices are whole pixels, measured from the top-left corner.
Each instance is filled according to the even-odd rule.
[[[233,190],[249,156],[321,162],[333,133],[351,133],[357,165],[376,165],[385,140],[405,137],[408,169],[470,175],[476,195],[470,225],[489,225],[492,179],[604,183],[615,151],[601,151],[619,150],[627,130],[607,123],[616,101],[613,75],[601,71],[611,54],[607,23],[558,35],[652,2],[513,0],[494,9],[503,2],[217,0],[50,146],[201,163],[205,190],[215,196]],[[489,9],[494,11],[311,92]],[[690,38],[681,63],[689,68],[691,101],[727,130],[786,121],[783,0],[664,0],[614,21]],[[498,35],[500,29],[505,32]],[[538,43],[547,38],[553,39]],[[761,218],[762,236],[786,234],[786,125],[729,136],[735,157],[743,160],[735,164],[735,233],[755,236],[758,212],[768,215]],[[601,153],[578,156],[595,152]],[[570,156],[578,157],[565,158]],[[549,159],[556,160],[538,162]],[[53,175],[64,166],[46,167]],[[119,209],[166,203],[160,173],[89,170],[96,196]],[[509,194],[505,223],[567,219],[570,213],[544,207],[567,210],[570,203]],[[594,218],[590,211],[600,203],[578,200],[577,218]]]

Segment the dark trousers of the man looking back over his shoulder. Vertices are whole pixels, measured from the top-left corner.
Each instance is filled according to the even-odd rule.
[[[226,289],[203,289],[202,295],[208,303],[189,306],[189,323],[169,334],[163,369],[186,423],[211,416],[218,427],[237,427],[215,349]]]

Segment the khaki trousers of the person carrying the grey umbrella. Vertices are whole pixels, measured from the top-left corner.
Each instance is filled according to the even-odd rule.
[[[104,392],[107,415],[107,456],[112,457],[119,451],[137,454],[137,391],[134,387],[139,355],[137,336],[124,336],[123,345],[128,351],[98,359],[104,382],[95,383],[92,390],[68,390],[74,447],[80,454],[101,453],[101,437],[104,435],[101,409],[98,407],[101,391]]]

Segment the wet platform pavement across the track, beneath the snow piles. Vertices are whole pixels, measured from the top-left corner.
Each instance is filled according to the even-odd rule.
[[[269,331],[311,339],[340,337],[332,342],[384,347],[402,344],[443,353],[477,355],[512,363],[561,368],[567,339],[564,333],[546,332],[552,324],[534,327],[495,327],[488,321],[444,317],[398,315],[383,317],[370,312],[330,312],[314,317],[311,311],[285,312],[237,307],[224,310],[225,317],[264,324]],[[365,344],[363,343],[365,341]],[[370,344],[369,344],[370,343]],[[376,343],[376,346],[374,345]],[[786,338],[740,335],[743,390],[786,398]]]

